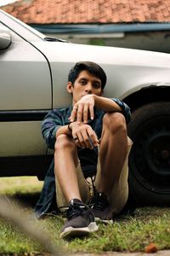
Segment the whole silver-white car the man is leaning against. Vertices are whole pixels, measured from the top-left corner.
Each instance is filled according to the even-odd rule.
[[[37,175],[53,152],[41,135],[52,108],[67,106],[67,75],[95,61],[108,77],[105,96],[131,108],[129,187],[140,205],[170,204],[170,55],[71,44],[46,38],[0,10],[0,176]]]

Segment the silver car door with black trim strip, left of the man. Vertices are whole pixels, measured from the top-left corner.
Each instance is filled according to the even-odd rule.
[[[48,61],[1,22],[0,32],[0,176],[37,175],[46,153],[41,121],[52,107]]]

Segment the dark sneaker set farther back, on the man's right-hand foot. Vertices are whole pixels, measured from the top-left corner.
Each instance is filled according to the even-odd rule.
[[[104,193],[97,192],[90,201],[90,208],[94,212],[95,221],[105,224],[113,223],[109,201]]]

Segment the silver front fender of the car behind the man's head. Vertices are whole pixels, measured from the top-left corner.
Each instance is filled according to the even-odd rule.
[[[123,99],[144,84],[166,84],[170,81],[170,55],[167,54],[81,44],[51,42],[50,48],[46,46],[48,43],[33,44],[45,53],[51,66],[54,108],[63,107],[71,100],[65,86],[68,72],[77,61],[95,61],[105,69],[108,78],[105,96]]]

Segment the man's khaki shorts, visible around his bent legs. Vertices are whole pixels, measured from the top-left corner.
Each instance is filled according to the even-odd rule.
[[[114,184],[113,189],[111,191],[111,208],[112,208],[113,215],[116,215],[117,213],[121,212],[122,208],[125,206],[127,202],[128,155],[130,153],[130,149],[132,148],[132,144],[133,144],[129,137],[127,137],[127,143],[128,143],[127,157],[124,161],[120,176],[117,178],[116,183]],[[80,163],[77,166],[77,178],[78,178],[78,185],[79,185],[82,201],[88,202],[91,196],[93,196],[94,191],[92,191],[92,183],[90,183],[90,180],[89,179],[86,180],[84,178]],[[97,174],[95,178],[96,187],[98,187],[100,178],[101,178],[101,168],[100,168],[100,162],[98,160]],[[56,194],[57,194],[56,198],[57,198],[58,207],[67,206],[67,202],[65,201],[65,197],[62,194],[62,191],[59,187],[59,183],[57,181],[56,181]]]

